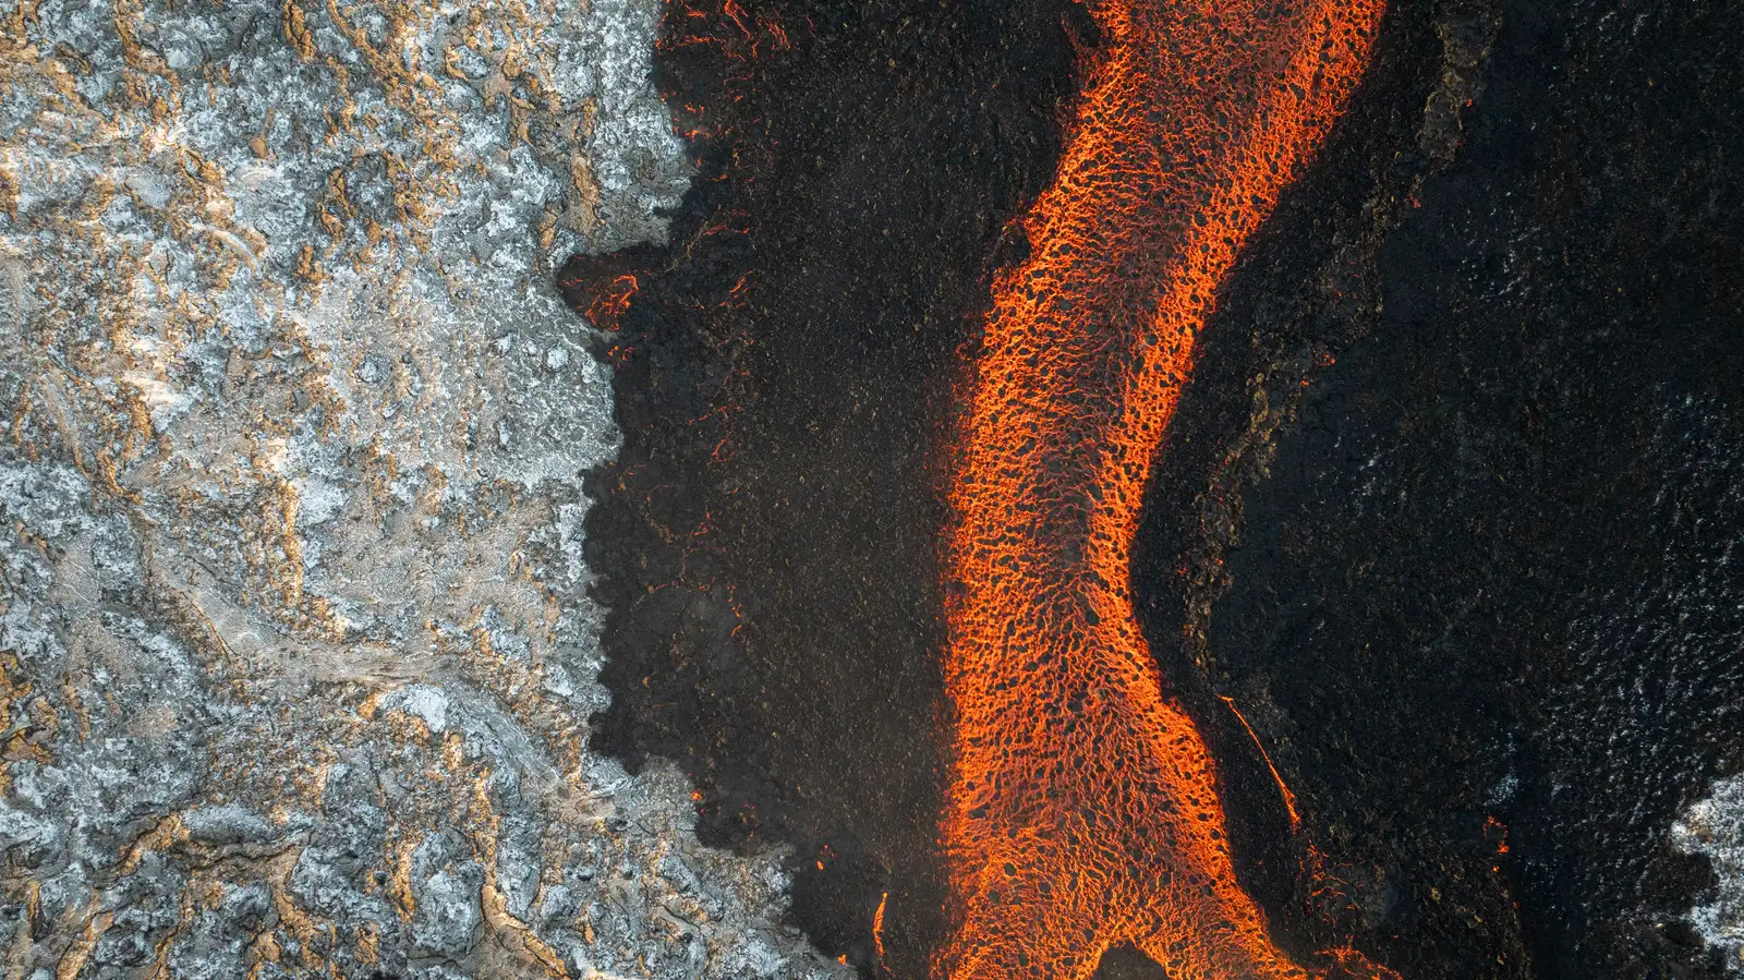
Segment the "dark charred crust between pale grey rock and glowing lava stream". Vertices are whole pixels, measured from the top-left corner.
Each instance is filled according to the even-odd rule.
[[[746,2],[666,17],[701,174],[605,356],[596,741],[677,759],[705,839],[797,847],[830,954],[919,977],[942,739],[931,452],[1006,221],[1052,176],[1069,0]],[[565,270],[586,309],[617,276]],[[821,868],[821,870],[820,870]]]

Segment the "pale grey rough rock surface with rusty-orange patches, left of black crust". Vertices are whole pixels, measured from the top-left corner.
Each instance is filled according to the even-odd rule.
[[[823,977],[603,706],[551,256],[664,235],[651,0],[0,3],[0,957]]]

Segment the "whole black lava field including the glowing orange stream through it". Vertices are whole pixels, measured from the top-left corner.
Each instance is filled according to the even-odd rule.
[[[1744,767],[1744,10],[1200,7],[668,7],[671,242],[560,274],[595,748],[867,977],[1727,977],[1671,828]]]

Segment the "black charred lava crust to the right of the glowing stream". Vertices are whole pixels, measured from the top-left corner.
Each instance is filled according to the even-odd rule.
[[[1158,656],[1296,949],[1721,977],[1667,828],[1744,766],[1744,14],[1395,14],[1202,345],[1142,532]],[[1449,66],[1463,134],[1423,110]]]

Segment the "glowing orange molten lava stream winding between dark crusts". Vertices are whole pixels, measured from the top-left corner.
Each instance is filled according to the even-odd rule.
[[[1139,497],[1242,242],[1325,136],[1383,0],[1099,0],[1106,54],[1001,277],[950,483],[942,835],[954,980],[1305,971],[1235,881],[1216,774],[1128,588]]]

